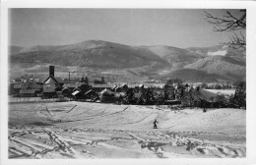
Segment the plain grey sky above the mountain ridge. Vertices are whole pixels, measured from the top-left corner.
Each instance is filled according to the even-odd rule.
[[[196,9],[11,9],[10,44],[63,45],[96,39],[127,45],[205,47],[228,40]],[[237,11],[232,11],[237,12]]]

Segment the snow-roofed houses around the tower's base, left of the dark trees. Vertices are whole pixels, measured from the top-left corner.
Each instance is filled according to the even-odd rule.
[[[129,86],[128,86],[129,85]],[[126,83],[68,83],[64,82],[60,78],[55,78],[53,76],[48,76],[44,80],[34,81],[24,80],[20,83],[11,83],[10,92],[12,94],[18,94],[19,96],[38,96],[39,93],[52,95],[56,92],[63,92],[64,95],[68,96],[74,91],[78,90],[80,92],[86,93],[90,89],[96,93],[101,92],[104,89],[109,89],[113,92],[126,92],[128,88],[134,88],[135,92],[139,92],[141,88],[148,88],[144,84],[126,84]]]

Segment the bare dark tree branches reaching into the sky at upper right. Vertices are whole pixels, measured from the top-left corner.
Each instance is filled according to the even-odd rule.
[[[210,13],[206,13],[206,21],[214,25],[214,31],[232,31],[233,35],[229,37],[228,42],[224,42],[228,46],[233,48],[246,48],[246,38],[241,32],[246,29],[246,10],[239,10],[239,16],[231,14],[229,11],[225,11],[223,17],[215,17]],[[239,32],[237,32],[239,31]],[[238,33],[238,34],[237,34]]]

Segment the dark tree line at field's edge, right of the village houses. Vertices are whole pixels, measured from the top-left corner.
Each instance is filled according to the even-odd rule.
[[[175,84],[175,87],[173,86]],[[186,85],[178,79],[168,80],[160,93],[156,87],[150,87],[142,89],[139,96],[135,96],[136,92],[134,89],[129,88],[125,93],[124,97],[120,97],[119,100],[123,104],[136,104],[136,105],[169,105],[169,104],[180,104],[180,98],[186,94],[187,101],[190,101],[191,104],[198,98],[201,101],[199,106],[208,108],[213,107],[222,107],[222,108],[246,108],[246,83],[240,82],[237,83],[235,93],[230,96],[224,94],[218,94],[217,97],[210,98],[210,100],[203,100],[200,97],[196,97],[195,94],[199,93],[199,87],[196,89],[190,88],[195,92],[186,91]],[[178,96],[178,97],[177,97]],[[214,101],[215,100],[215,101]]]

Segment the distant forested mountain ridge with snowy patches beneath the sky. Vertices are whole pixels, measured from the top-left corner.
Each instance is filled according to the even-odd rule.
[[[13,65],[59,65],[98,69],[144,67],[144,75],[163,78],[236,80],[246,73],[245,51],[223,45],[177,48],[166,45],[130,46],[103,40],[88,40],[68,45],[10,47]],[[164,71],[164,74],[160,74]],[[189,74],[190,73],[190,74]]]

